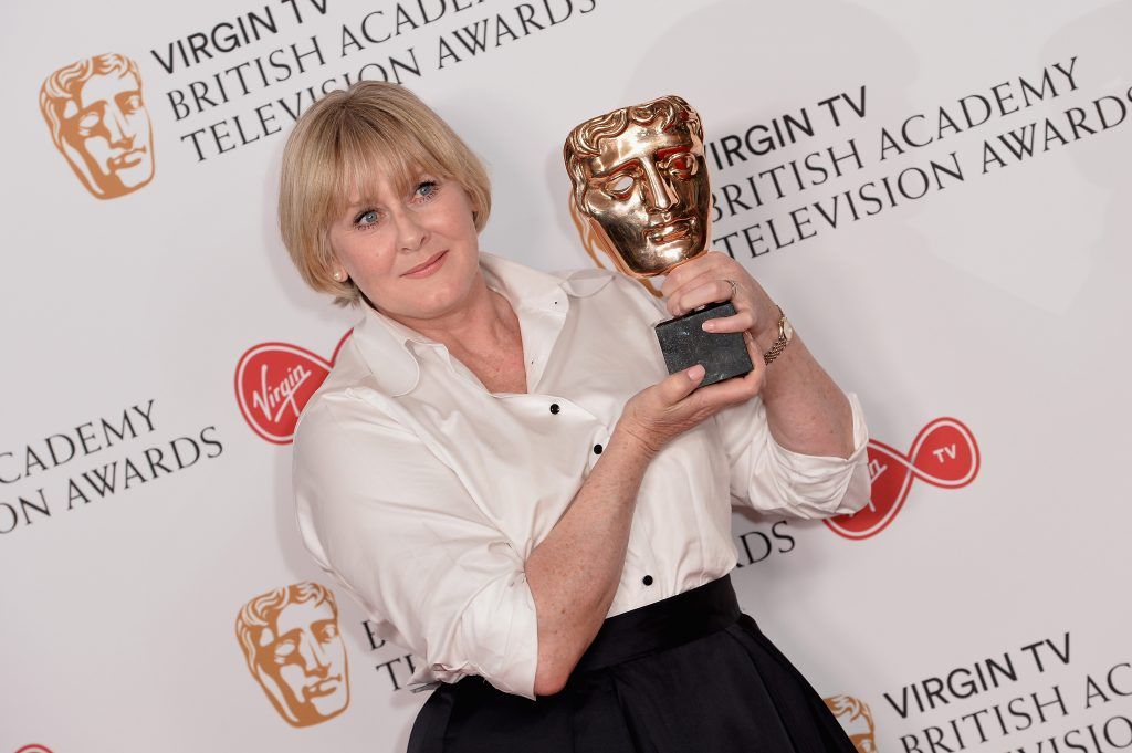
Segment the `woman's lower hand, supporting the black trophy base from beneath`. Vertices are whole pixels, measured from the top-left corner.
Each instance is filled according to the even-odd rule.
[[[698,363],[669,375],[625,403],[615,433],[625,436],[651,460],[677,436],[724,408],[745,403],[757,395],[766,376],[766,365],[751,333],[744,333],[743,342],[747,345],[751,362],[755,365],[749,374],[701,390],[696,387],[703,382],[704,367]]]

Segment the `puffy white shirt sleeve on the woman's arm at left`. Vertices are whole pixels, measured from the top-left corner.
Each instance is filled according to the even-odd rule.
[[[524,562],[414,434],[357,397],[324,396],[297,427],[293,484],[307,549],[381,638],[424,660],[415,682],[480,675],[534,699]]]

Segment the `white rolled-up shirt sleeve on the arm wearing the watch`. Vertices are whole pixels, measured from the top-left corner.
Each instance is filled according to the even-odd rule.
[[[806,455],[780,445],[758,395],[718,413],[731,496],[760,512],[798,517],[846,515],[868,504],[868,427],[857,395],[847,397],[852,411],[849,457]]]

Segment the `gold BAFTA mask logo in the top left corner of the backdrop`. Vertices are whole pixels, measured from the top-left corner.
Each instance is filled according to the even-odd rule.
[[[153,179],[153,129],[137,63],[86,58],[48,76],[40,111],[55,147],[94,196],[117,198]]]

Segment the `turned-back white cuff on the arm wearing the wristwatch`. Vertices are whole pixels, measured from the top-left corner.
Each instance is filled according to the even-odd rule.
[[[789,505],[803,517],[851,514],[868,504],[868,427],[856,393],[847,393],[852,412],[854,448],[848,457],[807,455],[787,450],[766,431],[766,448],[783,471],[794,497]]]

